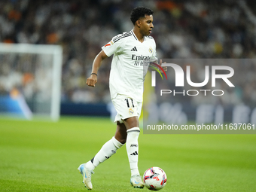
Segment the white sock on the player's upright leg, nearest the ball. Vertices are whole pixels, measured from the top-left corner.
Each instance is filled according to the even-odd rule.
[[[139,127],[133,127],[127,130],[126,139],[126,151],[128,155],[128,160],[130,163],[131,175],[139,175],[138,169],[138,154],[139,154]]]

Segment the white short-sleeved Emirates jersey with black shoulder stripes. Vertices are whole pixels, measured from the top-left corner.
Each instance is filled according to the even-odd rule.
[[[109,77],[111,99],[121,94],[142,102],[148,64],[157,61],[154,38],[145,36],[140,42],[131,30],[112,38],[102,50],[107,56],[114,54]]]

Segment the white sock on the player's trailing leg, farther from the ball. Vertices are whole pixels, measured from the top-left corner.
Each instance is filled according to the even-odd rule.
[[[122,146],[123,144],[121,144],[120,142],[117,141],[117,139],[112,137],[112,139],[110,139],[102,146],[102,148],[99,150],[96,156],[93,157],[92,160],[87,162],[87,167],[91,170],[95,169],[96,166],[99,166],[99,163],[108,160],[108,158],[115,154],[117,149]]]

